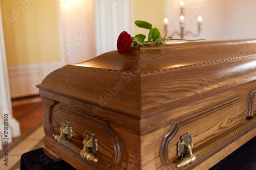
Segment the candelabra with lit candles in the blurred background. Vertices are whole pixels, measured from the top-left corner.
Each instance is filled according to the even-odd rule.
[[[198,19],[197,19],[197,28],[198,28],[198,32],[197,34],[194,34],[193,32],[191,31],[185,31],[185,17],[184,17],[184,2],[181,1],[180,2],[180,32],[179,31],[175,31],[173,32],[170,37],[173,37],[175,35],[180,35],[180,38],[181,39],[184,39],[184,36],[185,35],[191,35],[191,36],[194,36],[194,37],[197,37],[199,36],[200,32],[201,32],[201,28],[202,28],[202,17],[199,16]],[[164,28],[165,28],[165,32],[167,32],[167,22],[168,22],[168,19],[167,18],[164,18]]]

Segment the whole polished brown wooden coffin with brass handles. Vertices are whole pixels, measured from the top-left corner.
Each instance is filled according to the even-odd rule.
[[[37,87],[44,152],[76,169],[207,169],[256,134],[256,40],[112,51]]]

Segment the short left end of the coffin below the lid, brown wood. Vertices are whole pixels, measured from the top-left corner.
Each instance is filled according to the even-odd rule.
[[[140,157],[137,156],[140,152],[139,120],[42,89],[40,95],[46,118],[44,152],[48,156],[55,161],[61,158],[76,168],[88,166],[92,169],[138,169],[140,167]],[[99,144],[95,156],[99,162],[83,160],[79,154],[75,154],[54,140],[52,135],[60,133],[60,123],[63,119],[69,120],[74,132],[70,142],[80,149],[83,147],[84,130],[95,133]],[[75,157],[76,160],[71,160],[70,156]],[[79,166],[76,166],[77,164]]]

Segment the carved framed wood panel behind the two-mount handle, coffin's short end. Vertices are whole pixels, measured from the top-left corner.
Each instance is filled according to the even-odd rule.
[[[52,117],[52,126],[55,134],[60,133],[60,123],[63,119],[69,120],[72,126],[73,136],[70,142],[81,150],[83,148],[84,131],[89,130],[95,134],[98,139],[98,151],[95,153],[95,157],[99,159],[95,166],[111,168],[114,164],[121,163],[123,159],[122,143],[108,123],[65,106],[57,105],[53,109]]]

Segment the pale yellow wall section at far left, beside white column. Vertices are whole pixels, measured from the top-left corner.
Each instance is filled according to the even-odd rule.
[[[55,0],[0,0],[8,66],[59,61]]]

